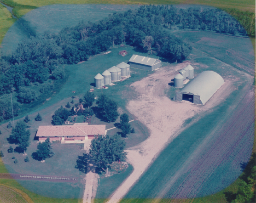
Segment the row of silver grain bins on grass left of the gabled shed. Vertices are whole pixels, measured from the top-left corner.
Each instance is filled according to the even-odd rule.
[[[98,73],[94,77],[95,87],[102,88],[104,85],[111,85],[112,82],[121,81],[122,78],[130,76],[130,65],[122,62],[105,70],[102,75]]]

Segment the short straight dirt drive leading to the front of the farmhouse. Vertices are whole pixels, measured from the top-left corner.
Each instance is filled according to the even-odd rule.
[[[83,203],[93,203],[97,192],[99,175],[90,171],[85,176]]]

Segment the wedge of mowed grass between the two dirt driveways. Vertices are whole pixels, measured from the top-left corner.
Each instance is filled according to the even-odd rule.
[[[128,168],[124,173],[114,174],[110,177],[99,178],[99,185],[97,193],[94,199],[95,203],[104,203],[108,197],[116,190],[116,188],[132,173],[132,165],[128,165]]]

